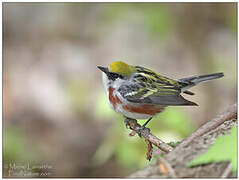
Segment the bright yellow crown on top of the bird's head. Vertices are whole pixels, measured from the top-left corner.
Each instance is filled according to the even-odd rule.
[[[115,61],[110,64],[110,72],[121,74],[123,76],[130,76],[136,71],[134,66],[130,66],[122,61]]]

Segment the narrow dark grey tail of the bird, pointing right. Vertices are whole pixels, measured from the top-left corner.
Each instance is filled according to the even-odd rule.
[[[223,77],[223,73],[214,73],[214,74],[207,74],[207,75],[201,75],[201,76],[192,76],[188,78],[182,78],[179,79],[179,83],[182,84],[182,91],[186,91],[192,86],[195,86],[196,84],[203,82],[203,81],[208,81],[212,79],[217,79]]]

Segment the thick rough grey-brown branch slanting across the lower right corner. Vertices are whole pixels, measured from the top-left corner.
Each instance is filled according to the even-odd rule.
[[[232,173],[231,165],[225,161],[194,167],[187,166],[188,162],[205,153],[218,136],[230,133],[235,125],[237,125],[236,104],[203,125],[176,146],[172,152],[165,154],[163,158],[160,157],[156,164],[131,174],[130,178],[236,177],[236,174]]]

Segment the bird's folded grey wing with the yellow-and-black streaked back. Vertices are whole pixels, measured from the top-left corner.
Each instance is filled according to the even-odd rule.
[[[180,93],[178,81],[158,75],[149,69],[136,67],[137,73],[131,82],[123,84],[118,89],[121,95],[133,103],[155,105],[197,105],[184,99]]]

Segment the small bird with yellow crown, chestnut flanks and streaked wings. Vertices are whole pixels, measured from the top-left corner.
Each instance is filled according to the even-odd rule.
[[[102,71],[110,107],[126,118],[148,119],[142,129],[167,106],[198,106],[185,99],[182,93],[194,95],[188,89],[198,83],[224,76],[220,72],[175,80],[148,68],[122,61],[114,61],[108,67],[97,67]]]

